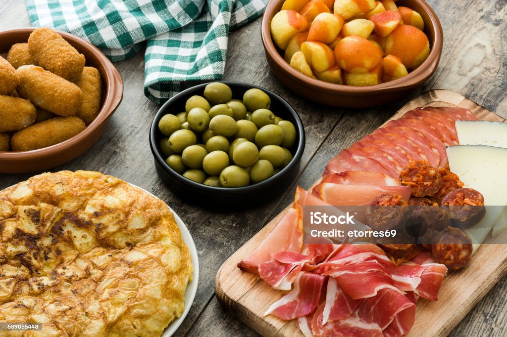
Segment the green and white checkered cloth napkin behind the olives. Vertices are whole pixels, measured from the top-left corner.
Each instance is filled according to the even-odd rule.
[[[229,29],[261,15],[268,0],[26,0],[33,26],[87,39],[113,62],[147,41],[144,95],[163,103],[182,82],[221,79]]]

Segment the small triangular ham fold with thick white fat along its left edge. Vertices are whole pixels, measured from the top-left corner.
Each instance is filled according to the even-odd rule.
[[[328,279],[328,287],[325,295],[324,310],[322,312],[322,323],[337,321],[350,317],[359,306],[361,300],[353,300],[338,285],[333,277]]]

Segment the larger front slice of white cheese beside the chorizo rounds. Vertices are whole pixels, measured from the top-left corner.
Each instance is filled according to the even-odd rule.
[[[465,184],[484,195],[489,206],[507,205],[507,149],[485,145],[459,145],[447,148],[451,172],[458,175]],[[476,226],[467,230],[477,244],[484,242],[491,228],[500,218],[502,207],[489,207],[486,216]]]

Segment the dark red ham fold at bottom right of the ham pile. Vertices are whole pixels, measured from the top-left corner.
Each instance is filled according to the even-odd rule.
[[[415,320],[415,304],[399,291],[382,289],[377,296],[361,302],[357,308],[357,315],[361,321],[378,324],[383,330],[405,310],[410,313],[410,316],[413,316],[410,320],[410,327],[408,327],[410,331]],[[403,319],[405,324],[406,321],[407,319]]]

